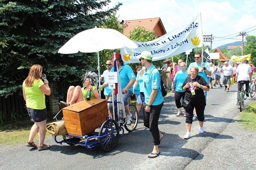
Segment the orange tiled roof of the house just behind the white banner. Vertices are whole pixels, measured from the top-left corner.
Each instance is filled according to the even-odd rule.
[[[124,21],[124,35],[129,35],[137,26],[144,27],[147,31],[153,31],[157,23],[161,20],[158,18],[134,19]],[[163,26],[164,27],[164,26]],[[164,28],[163,28],[164,29]],[[165,29],[164,29],[165,31]],[[166,33],[166,31],[165,31]]]

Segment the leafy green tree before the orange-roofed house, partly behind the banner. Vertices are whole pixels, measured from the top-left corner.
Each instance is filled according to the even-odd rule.
[[[153,33],[154,31],[147,31],[144,27],[137,26],[132,32],[130,31],[128,38],[132,41],[147,42],[157,38],[157,36]],[[164,60],[153,61],[152,63],[156,66],[156,68],[162,68]],[[135,71],[135,67],[138,65],[141,66],[141,63],[132,63],[129,65],[132,67],[132,70]]]

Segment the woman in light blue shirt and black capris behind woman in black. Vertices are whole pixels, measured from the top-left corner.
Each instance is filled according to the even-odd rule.
[[[182,90],[181,86],[184,83],[185,79],[188,77],[186,63],[184,62],[180,63],[180,68],[181,70],[175,74],[175,77],[173,79],[173,87],[172,87],[172,92],[174,92],[175,104],[176,104],[176,107],[178,108],[178,113],[176,116],[180,116],[182,114],[180,99],[181,97],[182,97],[182,100],[184,99],[185,92]],[[185,111],[183,116],[186,117]]]

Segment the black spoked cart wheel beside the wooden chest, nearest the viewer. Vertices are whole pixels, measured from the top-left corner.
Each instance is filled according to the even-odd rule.
[[[114,120],[112,120],[112,124],[111,124],[110,119],[106,120],[100,127],[98,140],[100,143],[100,147],[106,152],[112,151],[116,147],[119,139],[119,131],[113,134],[109,134],[111,133],[111,129],[113,131],[116,131],[119,129],[119,127],[116,121]],[[107,136],[101,137],[104,135],[107,135]]]

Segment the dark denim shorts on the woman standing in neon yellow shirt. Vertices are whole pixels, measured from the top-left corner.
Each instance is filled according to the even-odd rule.
[[[42,110],[27,108],[27,110],[32,122],[42,122],[47,119],[46,108]]]

